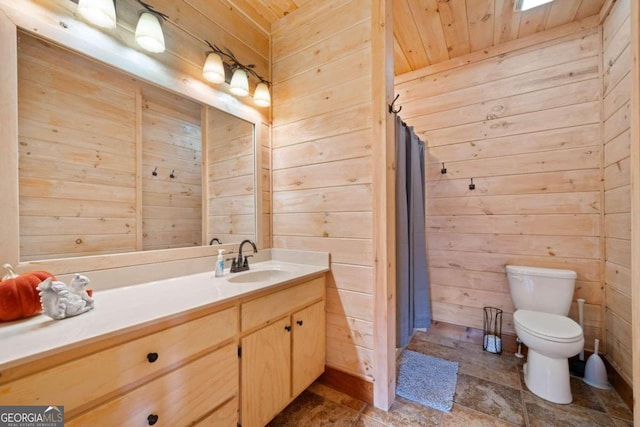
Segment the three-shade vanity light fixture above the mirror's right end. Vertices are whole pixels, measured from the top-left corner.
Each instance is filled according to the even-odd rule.
[[[207,40],[204,40],[204,42],[211,48],[211,51],[207,52],[207,59],[202,69],[202,75],[205,79],[212,83],[227,81],[229,82],[231,93],[236,96],[247,96],[249,94],[249,75],[252,75],[259,80],[253,93],[253,102],[258,107],[271,105],[271,94],[269,92],[271,83],[255,72],[255,65],[241,64],[229,49],[225,48],[225,51],[223,51]],[[226,58],[229,64],[226,64],[223,58]],[[225,67],[233,70],[231,80],[226,80]]]

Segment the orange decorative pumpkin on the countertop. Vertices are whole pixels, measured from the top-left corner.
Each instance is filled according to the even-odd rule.
[[[32,271],[18,275],[9,264],[3,266],[9,273],[0,282],[0,322],[22,319],[42,311],[40,293],[36,287],[48,277],[46,271]]]

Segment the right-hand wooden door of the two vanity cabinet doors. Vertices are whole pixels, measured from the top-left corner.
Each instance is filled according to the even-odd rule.
[[[293,315],[293,396],[297,396],[324,372],[324,301]]]

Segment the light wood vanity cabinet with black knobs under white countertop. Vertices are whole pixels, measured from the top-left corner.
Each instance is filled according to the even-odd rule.
[[[17,365],[0,405],[63,405],[69,427],[262,427],[324,371],[325,330],[322,274]]]

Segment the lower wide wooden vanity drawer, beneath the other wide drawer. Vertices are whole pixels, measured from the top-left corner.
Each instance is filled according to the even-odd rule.
[[[237,396],[238,381],[237,347],[229,344],[98,406],[65,426],[143,426],[150,424],[149,416],[157,417],[155,426],[193,425],[211,409]]]

